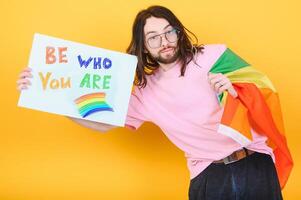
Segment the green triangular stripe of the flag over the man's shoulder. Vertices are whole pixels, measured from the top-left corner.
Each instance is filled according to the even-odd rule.
[[[236,55],[231,49],[227,48],[214,63],[210,72],[225,74],[246,66],[249,66],[249,63]]]

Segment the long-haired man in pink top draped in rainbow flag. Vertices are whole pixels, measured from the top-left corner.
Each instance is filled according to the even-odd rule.
[[[225,45],[192,45],[187,32],[165,7],[136,16],[127,52],[138,65],[126,127],[153,122],[185,152],[190,200],[282,199],[292,159],[279,120],[272,120],[279,113],[269,112],[271,99],[264,103],[271,83]],[[18,89],[30,75],[20,74]],[[73,120],[102,132],[114,128]]]

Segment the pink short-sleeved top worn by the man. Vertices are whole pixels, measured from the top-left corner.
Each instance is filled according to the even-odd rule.
[[[223,113],[217,95],[208,82],[208,71],[226,49],[225,45],[205,45],[204,53],[191,61],[184,76],[179,64],[168,71],[159,67],[147,76],[147,86],[134,87],[126,127],[137,129],[144,121],[153,122],[167,138],[184,151],[190,178],[196,177],[212,161],[222,159],[241,144],[218,133]],[[266,137],[253,132],[253,142],[246,148],[274,155],[265,141]]]

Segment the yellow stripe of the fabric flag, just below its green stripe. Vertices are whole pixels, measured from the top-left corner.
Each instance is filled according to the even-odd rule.
[[[243,67],[225,74],[232,83],[254,83],[258,88],[270,88],[276,93],[269,78],[254,67]]]

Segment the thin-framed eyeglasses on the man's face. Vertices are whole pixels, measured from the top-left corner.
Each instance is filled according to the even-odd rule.
[[[161,33],[159,35],[154,35],[147,39],[147,44],[150,48],[155,49],[159,48],[162,45],[162,35],[165,36],[165,39],[170,42],[174,43],[178,40],[179,31],[177,29],[172,29],[165,33]]]

